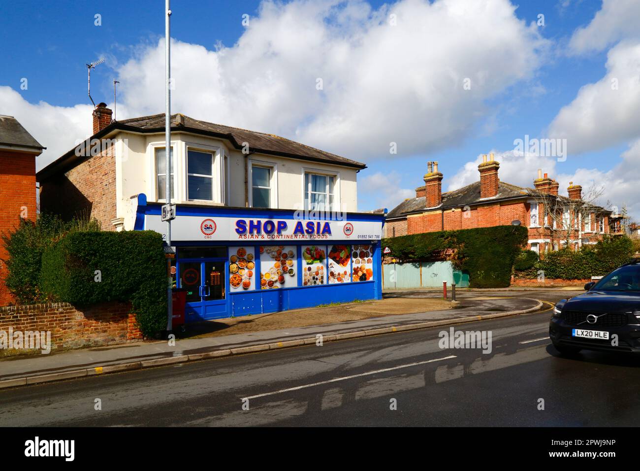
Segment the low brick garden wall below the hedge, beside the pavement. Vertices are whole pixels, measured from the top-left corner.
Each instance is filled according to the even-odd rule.
[[[86,308],[67,302],[0,308],[0,331],[50,331],[51,351],[138,342],[142,334],[128,302],[109,301]],[[1,352],[6,355],[8,351]],[[13,354],[24,353],[19,350]]]

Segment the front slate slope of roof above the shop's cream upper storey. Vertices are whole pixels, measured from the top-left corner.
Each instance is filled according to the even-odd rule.
[[[164,114],[125,119],[122,121],[116,121],[114,124],[116,127],[122,126],[125,128],[138,128],[143,131],[158,131],[164,129]],[[117,126],[118,124],[120,126]],[[284,137],[260,133],[257,131],[249,131],[248,129],[234,128],[232,126],[224,126],[223,124],[214,124],[212,122],[193,119],[182,114],[172,115],[171,127],[172,130],[175,129],[176,131],[179,131],[180,129],[183,131],[190,130],[196,133],[207,133],[227,138],[232,142],[232,144],[234,144],[236,149],[242,149],[243,142],[248,142],[250,151],[256,151],[259,153],[323,161],[327,163],[335,163],[337,165],[356,167],[358,169],[365,169],[367,167],[367,165],[362,162],[321,151],[320,149],[315,149],[314,147],[300,144],[300,142],[294,142]]]

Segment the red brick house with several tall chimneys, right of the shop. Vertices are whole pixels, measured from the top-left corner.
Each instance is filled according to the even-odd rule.
[[[522,224],[529,229],[529,249],[543,254],[567,242],[572,248],[595,244],[610,232],[611,211],[582,201],[582,186],[559,184],[538,170],[534,188],[500,181],[500,164],[484,155],[479,181],[442,193],[438,162],[428,162],[424,186],[387,214],[387,237],[453,229]],[[545,209],[545,206],[547,209]]]

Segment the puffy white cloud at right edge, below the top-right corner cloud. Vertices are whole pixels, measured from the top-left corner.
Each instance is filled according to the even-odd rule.
[[[640,42],[621,42],[609,51],[607,74],[580,88],[549,126],[566,138],[570,153],[605,149],[640,136]]]

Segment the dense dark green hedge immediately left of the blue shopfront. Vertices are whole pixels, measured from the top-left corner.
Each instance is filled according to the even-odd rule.
[[[166,327],[166,260],[153,231],[71,233],[42,255],[40,287],[53,301],[131,302],[142,333]]]

